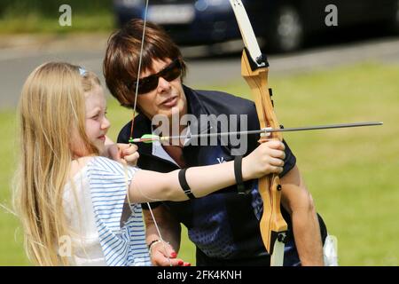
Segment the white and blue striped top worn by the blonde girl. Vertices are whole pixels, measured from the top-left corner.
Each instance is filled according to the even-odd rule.
[[[64,208],[77,232],[71,256],[74,264],[151,265],[140,204],[131,204],[132,213],[121,225],[127,186],[137,170],[104,157],[94,157],[76,174],[73,187],[70,183],[66,185]],[[75,200],[80,212],[74,206]]]

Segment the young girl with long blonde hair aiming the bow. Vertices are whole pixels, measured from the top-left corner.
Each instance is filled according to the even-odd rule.
[[[184,177],[101,156],[110,127],[106,99],[98,78],[80,67],[37,67],[24,84],[19,115],[14,201],[35,264],[150,265],[140,203],[185,201],[235,184],[233,162],[191,168]],[[131,149],[127,161],[137,158]],[[282,143],[263,143],[243,158],[243,179],[280,173],[282,159]],[[184,178],[191,193],[182,190]]]

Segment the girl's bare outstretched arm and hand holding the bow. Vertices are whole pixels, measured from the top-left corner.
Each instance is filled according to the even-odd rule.
[[[254,152],[243,158],[244,181],[263,177],[270,173],[281,173],[284,165],[284,144],[280,141],[262,143]],[[130,202],[186,201],[178,179],[179,170],[159,173],[139,170],[129,185]],[[192,167],[186,171],[186,180],[195,197],[202,197],[216,190],[235,185],[234,162]]]

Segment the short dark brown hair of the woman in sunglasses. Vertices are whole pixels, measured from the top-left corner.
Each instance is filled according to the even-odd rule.
[[[134,105],[135,90],[131,90],[129,86],[137,80],[143,28],[144,20],[130,20],[108,39],[103,72],[106,86],[121,106]],[[184,77],[186,67],[176,43],[163,28],[152,22],[146,22],[142,72],[153,71],[153,59],[180,59],[183,68],[182,77]]]

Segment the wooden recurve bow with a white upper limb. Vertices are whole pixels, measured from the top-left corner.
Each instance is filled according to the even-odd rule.
[[[266,127],[278,129],[279,124],[268,87],[269,63],[262,55],[254,35],[254,29],[241,0],[230,0],[230,2],[246,46],[241,59],[241,75],[246,79],[254,97],[260,127],[261,129]],[[268,138],[261,137],[259,142],[265,142],[270,138],[280,141],[283,139],[281,133],[274,132],[270,133]],[[278,175],[273,174],[260,178],[258,189],[263,201],[263,213],[260,221],[262,241],[270,253],[270,265],[281,266],[284,262],[287,225],[280,210],[281,185]]]

